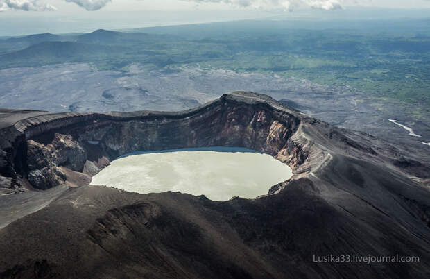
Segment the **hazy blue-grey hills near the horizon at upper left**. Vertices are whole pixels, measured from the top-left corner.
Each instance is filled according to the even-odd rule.
[[[157,54],[153,51],[156,47],[149,47],[153,44],[166,45],[180,40],[182,39],[174,35],[122,33],[103,29],[78,35],[44,33],[12,37],[0,40],[0,69],[95,61],[113,61],[113,65],[121,68],[137,56],[153,59]],[[121,62],[115,63],[115,60]],[[161,62],[157,60],[155,64],[164,65],[165,60],[166,58]]]

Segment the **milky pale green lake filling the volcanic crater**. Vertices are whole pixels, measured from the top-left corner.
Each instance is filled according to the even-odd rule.
[[[92,178],[140,194],[166,191],[205,195],[214,201],[255,198],[292,175],[270,155],[239,148],[178,149],[123,155]]]

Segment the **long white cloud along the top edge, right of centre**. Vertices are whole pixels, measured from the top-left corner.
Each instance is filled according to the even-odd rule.
[[[196,3],[224,3],[239,8],[283,9],[293,10],[301,5],[320,10],[343,8],[343,0],[182,0]]]

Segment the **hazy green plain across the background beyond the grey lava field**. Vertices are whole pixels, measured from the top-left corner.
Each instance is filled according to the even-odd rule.
[[[148,29],[154,34],[44,34],[49,42],[39,42],[42,39],[33,35],[31,40],[0,41],[0,69],[62,62],[91,62],[98,69],[118,71],[127,71],[131,63],[146,69],[195,65],[294,76],[379,98],[430,103],[430,22],[419,23],[415,32],[395,27],[383,32],[371,24],[348,30],[299,30],[279,24],[270,28],[270,22],[255,22],[253,29],[248,22],[230,23],[231,28],[223,23]],[[19,47],[24,49],[12,50]]]

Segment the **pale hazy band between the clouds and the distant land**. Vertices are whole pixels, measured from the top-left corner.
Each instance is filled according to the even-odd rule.
[[[13,10],[0,12],[0,37],[39,33],[87,33],[97,29],[124,31],[132,28],[205,24],[252,19],[294,21],[365,21],[384,19],[429,18],[429,9],[391,9],[351,7],[344,10],[158,10],[158,11],[86,11],[40,12]]]

